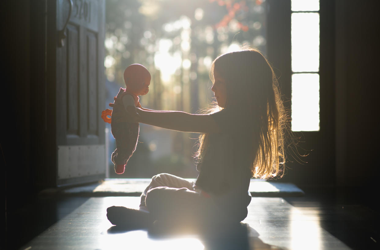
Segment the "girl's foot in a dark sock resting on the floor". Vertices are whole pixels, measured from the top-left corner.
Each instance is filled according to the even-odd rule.
[[[147,228],[154,221],[149,212],[119,206],[107,208],[107,219],[112,225],[128,228]]]

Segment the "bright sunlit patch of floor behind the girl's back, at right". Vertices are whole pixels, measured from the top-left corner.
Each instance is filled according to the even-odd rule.
[[[291,250],[350,249],[323,228],[320,215],[325,211],[315,207],[294,207],[284,198],[253,197],[248,211],[243,223],[252,228],[251,249],[256,249],[255,242]]]

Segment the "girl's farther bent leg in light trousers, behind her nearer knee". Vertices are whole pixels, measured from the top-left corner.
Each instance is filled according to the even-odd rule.
[[[144,211],[148,211],[145,204],[145,198],[146,198],[147,192],[151,189],[154,189],[155,187],[174,187],[177,189],[185,187],[189,190],[193,190],[193,185],[194,185],[194,182],[187,181],[175,175],[170,175],[166,173],[155,175],[152,177],[152,181],[150,181],[149,185],[141,194],[140,209]]]

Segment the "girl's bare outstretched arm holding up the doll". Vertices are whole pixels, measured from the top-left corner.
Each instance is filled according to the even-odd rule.
[[[180,111],[156,112],[136,108],[136,122],[181,132],[217,133],[219,126],[209,115],[195,115]],[[133,114],[127,114],[134,116]]]

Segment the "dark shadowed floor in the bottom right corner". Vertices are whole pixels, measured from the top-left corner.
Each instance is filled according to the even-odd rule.
[[[318,216],[320,227],[352,249],[378,249],[378,199],[373,188],[307,188],[305,197],[284,198],[294,208]]]

